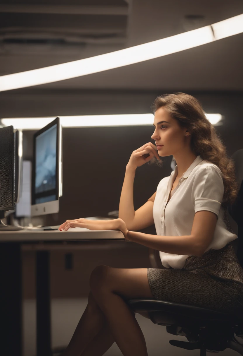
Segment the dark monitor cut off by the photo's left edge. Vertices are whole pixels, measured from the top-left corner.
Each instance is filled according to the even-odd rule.
[[[15,210],[20,196],[22,169],[22,132],[13,126],[0,129],[0,231],[22,230],[22,227],[5,225],[1,219],[6,211]]]

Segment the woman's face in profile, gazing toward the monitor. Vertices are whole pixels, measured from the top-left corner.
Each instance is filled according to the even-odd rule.
[[[182,129],[178,121],[173,119],[163,107],[156,110],[153,126],[155,131],[151,138],[155,140],[156,146],[163,145],[157,147],[158,155],[161,157],[176,156],[189,140],[189,137],[185,136],[186,132],[189,134],[187,129],[185,127]]]

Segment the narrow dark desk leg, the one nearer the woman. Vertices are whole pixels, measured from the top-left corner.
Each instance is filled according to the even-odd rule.
[[[36,252],[37,356],[51,356],[49,251]]]

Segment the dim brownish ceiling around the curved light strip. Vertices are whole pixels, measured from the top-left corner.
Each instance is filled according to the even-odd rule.
[[[113,52],[242,13],[242,0],[1,0],[0,75]],[[243,33],[32,89],[242,90],[242,43]]]

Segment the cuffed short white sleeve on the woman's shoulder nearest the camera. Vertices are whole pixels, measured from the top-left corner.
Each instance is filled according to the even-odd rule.
[[[218,216],[223,193],[223,176],[220,169],[214,165],[201,166],[195,174],[192,189],[195,213],[208,210]]]

